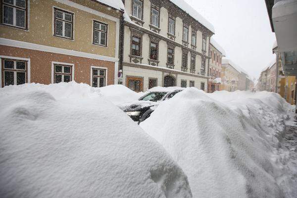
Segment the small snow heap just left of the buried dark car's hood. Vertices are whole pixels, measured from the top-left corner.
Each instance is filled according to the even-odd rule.
[[[115,105],[139,99],[143,93],[136,93],[123,85],[108,85],[106,87],[95,88],[100,94]]]

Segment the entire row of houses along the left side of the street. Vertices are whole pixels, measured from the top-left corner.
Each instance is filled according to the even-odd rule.
[[[184,0],[0,2],[0,87],[74,80],[136,92],[239,89],[214,27]]]

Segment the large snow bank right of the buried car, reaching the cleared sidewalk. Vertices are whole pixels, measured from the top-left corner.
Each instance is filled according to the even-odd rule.
[[[141,127],[183,168],[194,198],[284,198],[296,184],[278,144],[290,108],[273,93],[188,88]]]

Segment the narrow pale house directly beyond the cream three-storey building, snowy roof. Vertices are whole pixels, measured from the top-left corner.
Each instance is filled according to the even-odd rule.
[[[226,55],[225,50],[213,39],[210,38],[210,61],[208,76],[208,93],[221,91],[222,83],[222,57]]]

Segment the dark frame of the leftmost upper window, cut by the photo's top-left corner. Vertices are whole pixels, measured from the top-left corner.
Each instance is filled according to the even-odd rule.
[[[9,27],[22,29],[22,30],[29,30],[29,6],[30,6],[29,0],[25,0],[25,8],[14,5],[15,3],[16,3],[15,0],[13,1],[13,5],[11,5],[9,3],[5,3],[4,0],[0,0],[0,24],[5,25],[5,26],[9,26]],[[4,5],[13,8],[13,19],[12,19],[13,24],[12,25],[4,23]],[[25,27],[16,26],[16,11],[15,11],[16,9],[20,9],[20,10],[25,11]]]

